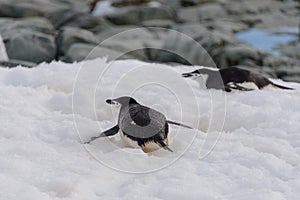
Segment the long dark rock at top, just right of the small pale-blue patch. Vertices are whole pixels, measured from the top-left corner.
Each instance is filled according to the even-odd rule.
[[[176,21],[176,12],[167,6],[161,7],[124,7],[119,8],[113,14],[105,16],[110,22],[116,25],[140,25],[143,21],[162,19]]]

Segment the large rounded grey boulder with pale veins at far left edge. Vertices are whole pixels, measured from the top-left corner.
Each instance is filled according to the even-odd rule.
[[[40,63],[55,58],[54,29],[46,19],[1,19],[0,33],[10,59]]]

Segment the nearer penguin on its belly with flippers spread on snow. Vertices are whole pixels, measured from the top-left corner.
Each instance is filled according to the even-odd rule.
[[[85,144],[100,137],[115,135],[120,131],[121,139],[131,147],[140,147],[145,153],[168,147],[169,124],[192,129],[181,123],[167,120],[166,117],[149,107],[139,104],[134,98],[123,96],[117,99],[107,99],[106,103],[121,106],[118,124],[92,137]]]

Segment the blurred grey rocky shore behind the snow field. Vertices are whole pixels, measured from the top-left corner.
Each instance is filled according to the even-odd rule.
[[[102,0],[90,10],[83,0],[0,0],[0,35],[9,57],[0,65],[33,67],[52,60],[74,62],[108,55],[109,59],[242,66],[300,82],[299,31],[280,31],[299,26],[296,0]],[[273,35],[291,39],[276,46],[279,53],[274,54],[238,39],[237,34],[249,30],[272,30]]]

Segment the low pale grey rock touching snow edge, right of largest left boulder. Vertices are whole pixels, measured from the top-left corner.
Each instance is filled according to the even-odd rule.
[[[107,57],[109,61],[115,59],[133,59],[133,57],[128,55],[121,55],[121,52],[109,48],[99,47],[91,44],[75,43],[68,49],[64,61],[74,62],[101,57]]]

